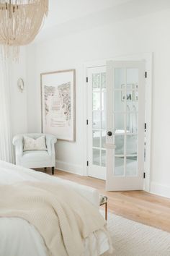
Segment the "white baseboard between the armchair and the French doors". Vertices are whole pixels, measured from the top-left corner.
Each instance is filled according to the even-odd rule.
[[[71,174],[79,174],[81,176],[84,175],[84,170],[82,166],[59,160],[56,160],[55,163],[55,166],[56,168],[58,168],[58,170],[70,172]]]

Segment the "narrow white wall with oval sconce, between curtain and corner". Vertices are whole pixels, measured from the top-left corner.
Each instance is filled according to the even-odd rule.
[[[20,93],[17,80],[24,80],[24,92]],[[26,81],[26,53],[25,48],[20,48],[19,61],[9,64],[10,104],[12,136],[27,132],[27,81]]]

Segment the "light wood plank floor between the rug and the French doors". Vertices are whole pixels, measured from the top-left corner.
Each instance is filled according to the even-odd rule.
[[[170,199],[144,191],[106,192],[104,181],[65,171],[55,170],[55,176],[98,189],[107,195],[112,213],[170,232]]]

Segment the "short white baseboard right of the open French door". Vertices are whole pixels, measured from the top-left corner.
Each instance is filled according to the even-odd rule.
[[[170,187],[164,186],[162,184],[151,182],[151,191],[152,194],[161,195],[162,197],[170,198]]]

